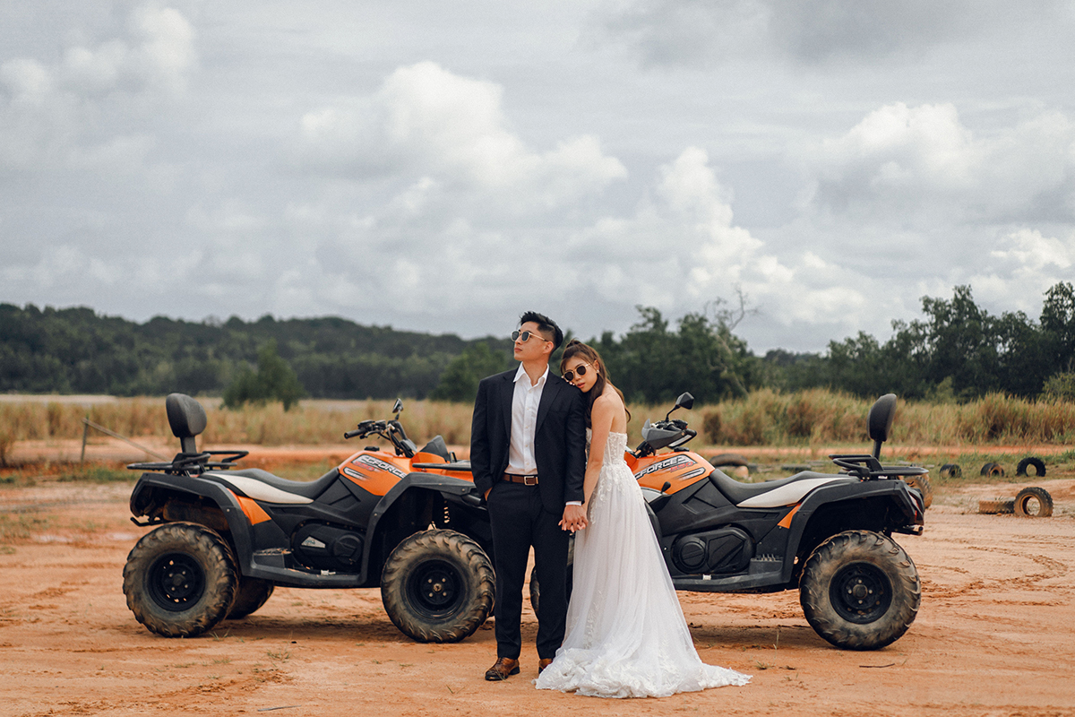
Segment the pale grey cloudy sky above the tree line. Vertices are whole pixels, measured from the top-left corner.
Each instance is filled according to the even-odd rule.
[[[1075,5],[0,4],[0,301],[823,349],[1075,281]]]

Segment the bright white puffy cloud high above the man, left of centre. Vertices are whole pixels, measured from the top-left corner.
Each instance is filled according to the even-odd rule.
[[[302,117],[299,161],[361,181],[371,172],[497,193],[512,206],[551,209],[626,176],[589,135],[529,149],[511,131],[498,85],[434,62],[396,70],[371,97]]]

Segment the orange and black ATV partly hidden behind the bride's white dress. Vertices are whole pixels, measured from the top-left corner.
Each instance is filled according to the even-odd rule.
[[[676,408],[690,408],[690,393]],[[765,483],[741,483],[684,444],[697,435],[684,420],[642,429],[625,460],[677,590],[799,590],[806,620],[844,649],[877,649],[900,639],[918,614],[921,583],[892,533],[919,535],[924,505],[904,478],[926,469],[878,460],[895,414],[895,396],[870,410],[872,455],[830,456],[841,473],[805,471]],[[666,453],[657,453],[668,448]],[[570,574],[569,574],[570,585]],[[531,573],[530,599],[540,599]]]

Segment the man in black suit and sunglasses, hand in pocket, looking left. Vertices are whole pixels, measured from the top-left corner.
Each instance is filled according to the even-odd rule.
[[[485,673],[490,680],[519,672],[531,546],[541,584],[539,672],[553,661],[567,623],[567,531],[586,527],[586,403],[548,368],[563,332],[547,316],[527,312],[512,338],[519,367],[478,384],[471,426],[471,468],[489,508],[497,570],[497,662]]]

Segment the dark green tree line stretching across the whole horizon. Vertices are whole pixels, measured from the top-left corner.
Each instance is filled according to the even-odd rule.
[[[736,305],[715,302],[674,322],[657,309],[639,306],[639,320],[626,333],[607,331],[590,342],[632,402],[669,402],[689,390],[699,402],[713,403],[763,387],[827,387],[865,398],[891,391],[957,401],[990,392],[1075,399],[1071,283],[1045,292],[1037,319],[1022,312],[992,315],[975,303],[970,286],[957,286],[950,299],[924,297],[922,318],[893,321],[887,341],[859,332],[816,354],[755,355],[735,333],[750,313],[743,297]],[[554,355],[554,371],[558,362]],[[506,336],[463,340],[339,317],[155,317],[138,324],[86,307],[0,304],[5,392],[180,391],[285,405],[301,396],[467,402],[483,376],[513,365]]]

